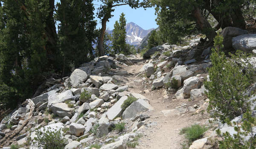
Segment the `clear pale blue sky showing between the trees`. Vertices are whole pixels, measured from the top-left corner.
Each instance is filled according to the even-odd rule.
[[[59,0],[55,0],[55,3],[57,1],[59,2]],[[97,2],[97,0],[93,1],[95,7],[95,15],[100,3],[101,2]],[[155,21],[157,16],[154,15],[154,8],[147,8],[146,10],[144,10],[143,8],[131,9],[131,7],[129,7],[128,5],[124,5],[116,7],[115,11],[112,12],[114,16],[111,19],[109,19],[109,22],[107,23],[107,29],[112,30],[114,28],[114,24],[116,20],[119,20],[119,17],[122,12],[125,14],[126,23],[134,22],[135,24],[137,24],[145,30],[151,28],[156,29],[158,27]],[[95,19],[97,20],[97,29],[101,28],[99,18],[95,17]]]

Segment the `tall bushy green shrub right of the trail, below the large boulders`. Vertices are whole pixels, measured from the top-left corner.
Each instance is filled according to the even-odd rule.
[[[250,109],[249,97],[245,96],[248,87],[256,81],[255,66],[251,63],[251,55],[237,51],[226,58],[221,52],[223,37],[214,39],[215,49],[212,49],[212,68],[209,79],[205,81],[205,88],[209,91],[208,112],[215,110],[216,116],[224,122],[226,118],[233,119]],[[249,56],[249,57],[248,57]]]

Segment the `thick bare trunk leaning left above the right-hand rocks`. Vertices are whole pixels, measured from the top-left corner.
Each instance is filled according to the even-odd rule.
[[[193,15],[196,19],[196,23],[198,23],[202,31],[207,30],[205,34],[208,37],[208,39],[213,40],[213,38],[217,35],[217,33],[214,31],[214,29],[212,29],[212,26],[207,21],[207,19],[203,16],[203,14],[201,13],[198,7],[195,7],[195,9],[193,10]]]

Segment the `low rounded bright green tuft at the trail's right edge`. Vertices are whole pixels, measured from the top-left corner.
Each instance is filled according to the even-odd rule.
[[[200,126],[198,124],[194,124],[190,127],[185,127],[180,130],[180,134],[185,134],[185,138],[189,141],[194,141],[202,137],[204,132],[207,131],[207,128],[204,126]]]

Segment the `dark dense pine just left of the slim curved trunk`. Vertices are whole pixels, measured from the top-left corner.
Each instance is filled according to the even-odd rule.
[[[92,43],[96,38],[93,20],[92,0],[61,0],[57,3],[56,18],[60,21],[58,26],[59,47],[62,63],[62,76],[67,69],[79,66],[79,64],[93,57]]]

